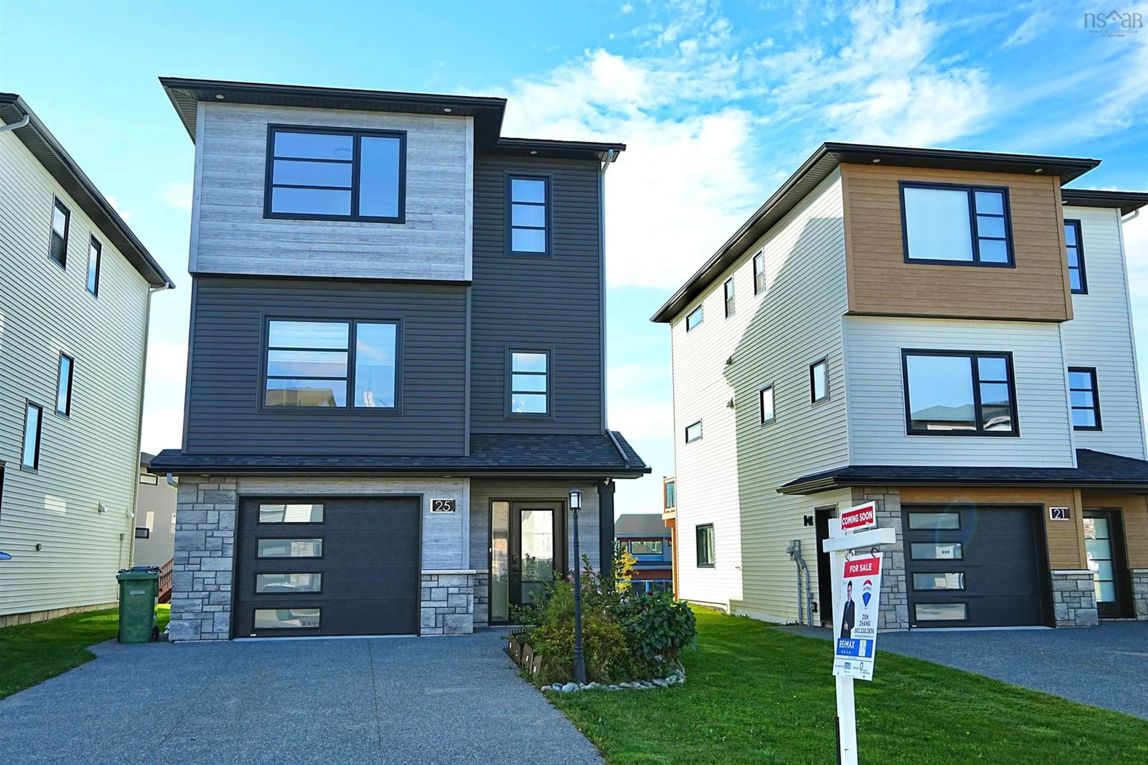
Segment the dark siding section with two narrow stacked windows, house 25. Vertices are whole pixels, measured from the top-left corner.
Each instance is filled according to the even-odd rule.
[[[506,257],[506,174],[550,178],[551,257]],[[478,156],[471,429],[602,432],[602,253],[596,162]],[[552,420],[506,416],[506,351],[551,349]]]

